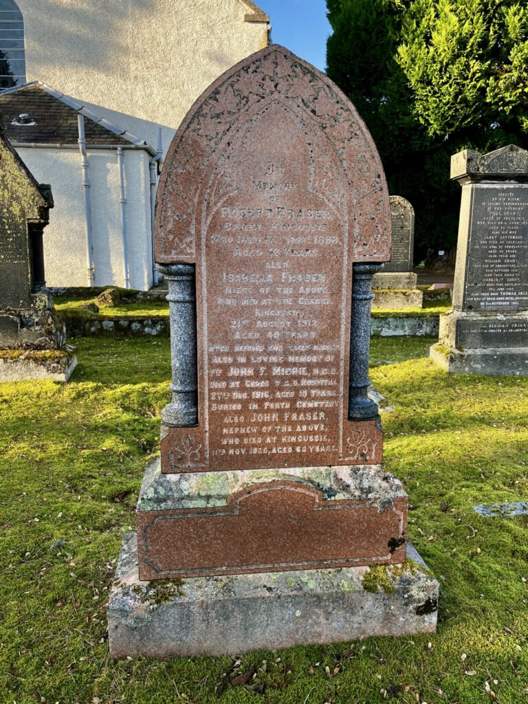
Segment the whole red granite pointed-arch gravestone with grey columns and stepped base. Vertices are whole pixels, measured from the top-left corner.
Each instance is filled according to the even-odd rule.
[[[434,630],[438,585],[405,566],[408,499],[367,395],[389,246],[375,145],[313,66],[270,46],[191,108],[156,206],[172,400],[118,562],[113,656]],[[390,595],[363,589],[373,565]]]

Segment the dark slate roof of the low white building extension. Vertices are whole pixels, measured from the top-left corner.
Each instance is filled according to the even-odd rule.
[[[134,144],[151,154],[156,150],[142,139],[116,127],[108,120],[84,108],[44,83],[34,81],[0,92],[0,111],[4,118],[4,134],[10,142],[25,144],[77,144],[77,115],[84,115],[84,132],[90,144]],[[27,113],[34,125],[13,125],[19,115]]]

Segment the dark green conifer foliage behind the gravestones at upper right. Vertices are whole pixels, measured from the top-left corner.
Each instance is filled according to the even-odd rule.
[[[514,0],[327,0],[327,73],[372,132],[415,256],[455,243],[451,155],[528,146],[528,9]]]

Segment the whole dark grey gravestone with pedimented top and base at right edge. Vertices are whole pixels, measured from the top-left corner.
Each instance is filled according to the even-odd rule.
[[[528,375],[528,151],[451,159],[462,186],[453,308],[431,357],[449,372]]]

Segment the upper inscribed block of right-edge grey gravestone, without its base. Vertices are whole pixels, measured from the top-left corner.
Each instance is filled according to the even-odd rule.
[[[527,310],[528,151],[463,151],[451,177],[463,187],[453,308]]]

